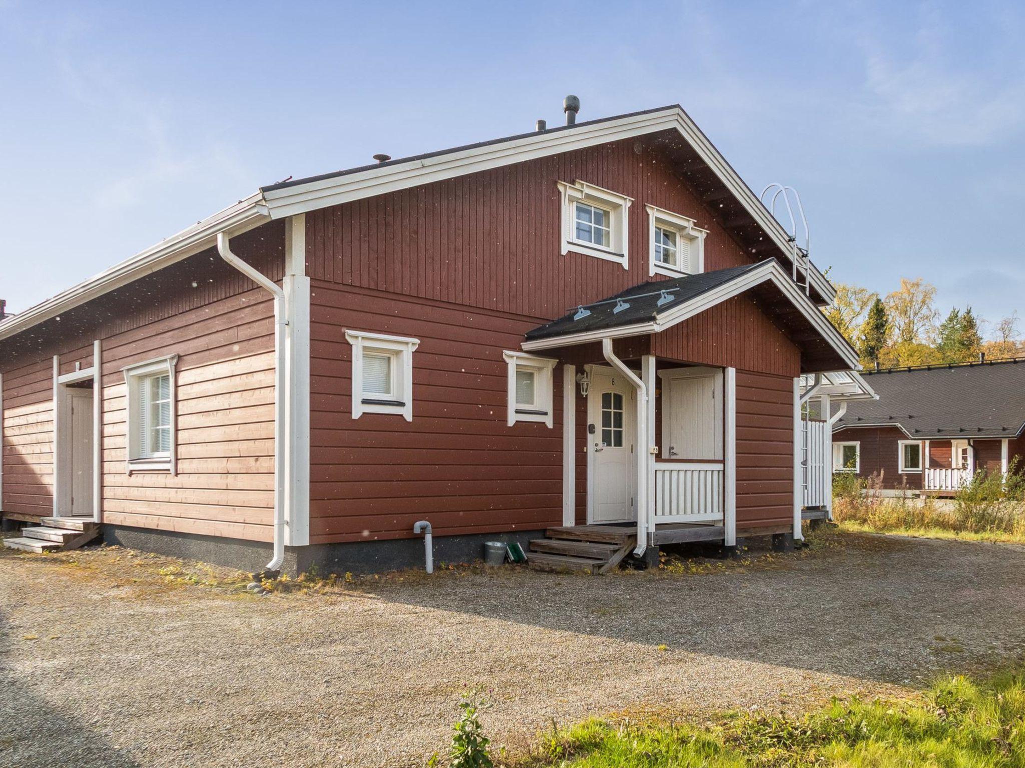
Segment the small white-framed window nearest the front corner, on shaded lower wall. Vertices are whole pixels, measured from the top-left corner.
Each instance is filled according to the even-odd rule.
[[[419,339],[345,331],[353,345],[353,418],[397,414],[413,420],[413,352]]]

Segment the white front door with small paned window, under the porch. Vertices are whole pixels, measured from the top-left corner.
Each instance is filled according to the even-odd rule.
[[[637,392],[613,369],[591,370],[587,393],[590,522],[637,519]]]

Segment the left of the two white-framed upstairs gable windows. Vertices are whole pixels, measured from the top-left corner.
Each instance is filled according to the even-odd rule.
[[[584,181],[559,182],[562,254],[581,253],[628,266],[628,217],[632,200]]]

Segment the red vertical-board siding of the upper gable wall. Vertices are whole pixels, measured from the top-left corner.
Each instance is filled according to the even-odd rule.
[[[560,255],[556,182],[577,179],[633,198],[628,270],[591,256]],[[706,270],[751,261],[662,153],[629,139],[309,213],[309,272],[330,283],[554,319],[567,307],[649,280],[647,203],[709,230]]]

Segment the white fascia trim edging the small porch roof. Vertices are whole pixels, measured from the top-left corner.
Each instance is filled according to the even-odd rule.
[[[801,313],[812,324],[812,326],[829,343],[833,350],[845,359],[845,361],[847,361],[852,368],[856,368],[858,366],[858,355],[853,349],[851,349],[847,340],[844,339],[839,331],[837,331],[833,325],[826,319],[825,315],[819,311],[819,308],[815,306],[812,300],[808,298],[803,291],[801,291],[797,285],[790,280],[790,276],[783,271],[783,267],[781,267],[779,262],[775,259],[768,259],[762,262],[758,268],[752,269],[737,280],[731,281],[713,291],[704,293],[701,296],[673,307],[655,322],[640,323],[632,326],[622,326],[620,328],[585,331],[579,334],[556,336],[548,339],[538,339],[536,341],[525,341],[521,344],[521,347],[528,351],[537,349],[552,349],[561,346],[584,344],[590,341],[598,341],[600,339],[617,339],[628,336],[643,336],[650,333],[658,333],[675,326],[678,323],[683,323],[685,319],[693,317],[695,314],[699,314],[706,309],[713,307],[715,304],[722,303],[727,299],[732,299],[734,296],[738,296],[744,291],[766,282],[772,282],[788,299],[790,299],[794,307],[801,311]]]

